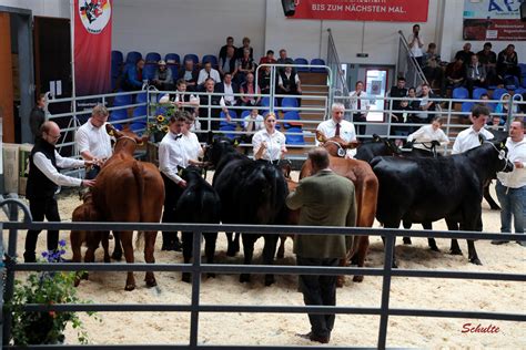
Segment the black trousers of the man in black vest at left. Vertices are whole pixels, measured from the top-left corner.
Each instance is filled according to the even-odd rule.
[[[59,206],[57,205],[57,199],[45,198],[45,199],[30,199],[29,209],[33,222],[43,222],[44,217],[48,222],[60,223]],[[37,259],[36,249],[37,240],[41,230],[28,230],[26,236],[26,251],[23,253],[23,259],[26,262],[34,262]],[[48,230],[48,250],[57,250],[59,247],[59,231],[58,230]]]

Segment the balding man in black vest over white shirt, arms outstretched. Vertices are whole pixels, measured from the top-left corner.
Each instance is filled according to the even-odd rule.
[[[91,161],[65,158],[54,148],[60,138],[60,127],[54,122],[44,122],[40,127],[41,137],[37,141],[29,156],[29,175],[26,188],[26,198],[29,199],[29,209],[34,222],[60,223],[59,207],[54,194],[59,186],[92,187],[93,179],[80,179],[59,173],[59,168],[72,168],[90,165]],[[36,262],[37,240],[41,230],[30,229],[26,236],[26,262]],[[48,250],[57,250],[59,231],[48,230]]]

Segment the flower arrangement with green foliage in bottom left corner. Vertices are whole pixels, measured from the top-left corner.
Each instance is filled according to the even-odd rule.
[[[59,241],[58,251],[44,251],[42,257],[48,262],[63,261],[65,240]],[[14,294],[8,310],[12,316],[11,340],[14,346],[57,344],[64,341],[63,331],[71,322],[77,329],[80,343],[88,343],[88,334],[79,316],[72,311],[24,312],[27,303],[82,303],[74,287],[75,272],[42,271],[32,272],[26,282],[14,281]],[[93,316],[93,312],[88,312]]]

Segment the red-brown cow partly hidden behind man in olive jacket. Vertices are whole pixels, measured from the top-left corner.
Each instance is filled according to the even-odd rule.
[[[330,167],[336,174],[347,177],[354,183],[356,188],[356,226],[372,227],[374,217],[376,215],[376,200],[378,196],[378,179],[374,175],[371,166],[363,161],[347,159],[334,156],[338,148],[353,147],[355,144],[345,143],[340,137],[326,138],[323,134],[316,132],[317,140],[323,142],[323,145],[331,154]],[[337,144],[337,145],[336,145]],[[331,146],[333,145],[333,147]],[[312,172],[311,162],[307,159],[302,166],[300,178],[310,176]],[[342,259],[341,265],[347,266],[348,258],[353,264],[363,267],[368,249],[368,236],[358,236],[354,239],[352,251],[348,251],[347,258]],[[363,276],[354,276],[354,281],[363,281]],[[343,286],[343,277],[338,278],[338,286]]]

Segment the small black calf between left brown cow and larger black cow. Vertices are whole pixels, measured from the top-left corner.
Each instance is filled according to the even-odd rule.
[[[201,177],[201,168],[189,166],[181,172],[186,181],[186,188],[182,193],[175,207],[178,223],[219,224],[221,220],[221,199],[215,189]],[[204,255],[206,262],[214,262],[215,241],[218,233],[203,233]],[[188,264],[192,258],[192,233],[183,233],[183,258]],[[209,274],[209,277],[214,277]],[[183,272],[182,280],[190,282],[190,272]]]

